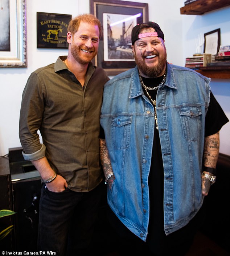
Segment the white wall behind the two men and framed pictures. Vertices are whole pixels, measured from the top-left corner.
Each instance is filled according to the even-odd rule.
[[[223,44],[230,44],[230,8],[209,12],[202,16],[180,15],[184,0],[137,0],[148,3],[149,20],[158,23],[165,34],[168,62],[184,66],[185,57],[196,50],[196,39],[200,32],[206,33],[221,28]],[[26,80],[36,68],[55,62],[66,49],[37,49],[36,12],[71,14],[89,12],[89,0],[27,0],[27,68],[0,68],[0,155],[11,147],[19,147],[18,136],[21,95]],[[222,34],[223,33],[223,34]],[[213,79],[212,91],[230,119],[230,79]],[[219,90],[219,89],[223,90]],[[221,130],[222,153],[230,155],[230,125]]]

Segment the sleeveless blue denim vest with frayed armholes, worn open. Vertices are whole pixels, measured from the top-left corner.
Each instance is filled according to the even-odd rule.
[[[191,69],[167,64],[165,84],[157,91],[166,235],[188,224],[203,202],[201,169],[209,83],[210,79]],[[116,177],[107,190],[108,204],[145,241],[155,119],[137,67],[106,83],[100,122]]]

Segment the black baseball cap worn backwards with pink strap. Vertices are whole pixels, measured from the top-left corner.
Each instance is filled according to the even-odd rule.
[[[140,38],[139,36],[139,32],[141,29],[143,29],[143,25],[145,27],[148,27],[148,28],[154,28],[156,33],[157,34],[154,34],[155,36],[158,36],[160,38],[162,38],[164,40],[164,34],[162,32],[162,30],[160,29],[159,25],[155,22],[152,22],[152,21],[148,21],[148,22],[145,22],[145,23],[140,23],[140,24],[137,24],[133,29],[132,29],[132,45],[134,45],[134,42]],[[146,33],[143,33],[143,34],[146,34]],[[146,35],[146,36],[150,36],[150,35]],[[144,37],[144,35],[142,36]]]

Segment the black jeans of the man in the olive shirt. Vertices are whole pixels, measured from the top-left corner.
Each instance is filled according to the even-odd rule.
[[[58,256],[89,255],[94,223],[102,196],[102,183],[90,192],[50,192],[42,186],[38,251]]]

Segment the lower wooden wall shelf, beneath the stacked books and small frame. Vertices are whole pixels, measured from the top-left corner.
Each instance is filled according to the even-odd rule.
[[[217,79],[230,79],[230,67],[214,68],[214,67],[201,67],[196,70],[200,74]]]

